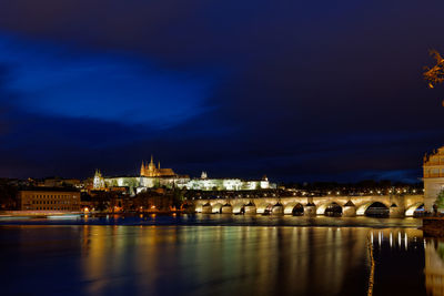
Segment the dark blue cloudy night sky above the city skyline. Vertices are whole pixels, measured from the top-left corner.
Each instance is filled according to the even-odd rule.
[[[443,0],[1,0],[0,176],[416,182]]]

